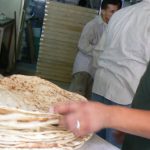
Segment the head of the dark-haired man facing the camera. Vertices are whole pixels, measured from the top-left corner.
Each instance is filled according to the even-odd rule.
[[[101,15],[103,20],[108,23],[113,13],[115,13],[121,7],[121,0],[103,0],[101,4]]]

